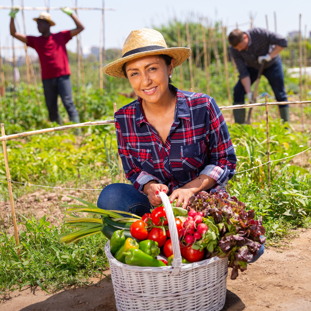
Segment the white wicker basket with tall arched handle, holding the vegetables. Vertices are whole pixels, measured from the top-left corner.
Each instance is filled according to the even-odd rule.
[[[165,207],[173,245],[173,266],[137,267],[117,261],[105,246],[118,311],[216,311],[225,304],[228,259],[213,257],[182,264],[177,227],[165,193]]]

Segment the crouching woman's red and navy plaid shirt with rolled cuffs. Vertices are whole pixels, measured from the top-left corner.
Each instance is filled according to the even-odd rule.
[[[205,94],[179,91],[174,122],[162,145],[156,130],[142,114],[142,98],[114,115],[118,152],[133,186],[156,180],[169,193],[206,174],[216,180],[212,188],[225,188],[235,172],[236,157],[227,125],[215,100]]]

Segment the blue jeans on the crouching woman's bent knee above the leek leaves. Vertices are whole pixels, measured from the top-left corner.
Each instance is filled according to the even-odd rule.
[[[106,186],[97,200],[97,207],[104,210],[126,211],[142,216],[153,208],[148,197],[127,183]]]

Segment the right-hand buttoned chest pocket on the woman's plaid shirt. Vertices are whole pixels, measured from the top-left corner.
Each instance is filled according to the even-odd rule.
[[[206,160],[205,141],[181,146],[181,163],[185,172],[198,169]]]

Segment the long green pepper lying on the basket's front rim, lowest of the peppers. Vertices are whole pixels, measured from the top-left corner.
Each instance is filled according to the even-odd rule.
[[[140,267],[162,267],[166,266],[163,261],[160,261],[152,256],[144,253],[137,248],[130,248],[128,252],[123,253],[125,255],[125,262],[131,266]]]

